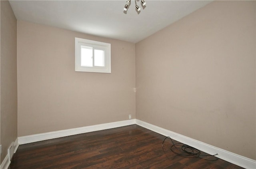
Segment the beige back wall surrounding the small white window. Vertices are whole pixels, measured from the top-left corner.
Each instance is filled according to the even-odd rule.
[[[135,44],[18,21],[18,136],[135,117]],[[75,72],[75,37],[111,44],[111,74]]]

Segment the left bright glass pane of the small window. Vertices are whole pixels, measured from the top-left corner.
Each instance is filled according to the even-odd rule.
[[[81,66],[92,67],[92,47],[81,46]]]

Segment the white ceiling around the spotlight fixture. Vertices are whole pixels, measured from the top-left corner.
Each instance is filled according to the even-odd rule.
[[[139,42],[162,28],[202,8],[211,0],[10,0],[17,20],[83,32],[106,38]]]

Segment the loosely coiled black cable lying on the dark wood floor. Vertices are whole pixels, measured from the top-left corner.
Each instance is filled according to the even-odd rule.
[[[201,151],[194,148],[194,147],[191,147],[191,146],[183,144],[183,143],[175,143],[174,144],[172,138],[169,137],[169,136],[165,137],[164,141],[167,138],[169,138],[172,141],[171,151],[173,153],[175,153],[176,155],[179,155],[181,157],[187,157],[187,158],[199,157],[199,158],[205,159],[203,157],[215,157],[215,155],[218,155],[218,154],[215,154],[215,155],[201,155]],[[164,141],[162,143],[162,147],[164,147]],[[174,149],[176,149],[176,151],[174,151]],[[216,160],[218,160],[218,158],[215,157],[213,160],[212,159],[205,159],[205,160],[216,161]]]

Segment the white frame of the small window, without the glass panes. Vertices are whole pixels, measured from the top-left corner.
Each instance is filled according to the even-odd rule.
[[[93,50],[104,50],[104,66],[81,66],[81,46],[92,47]],[[111,73],[111,44],[105,42],[98,42],[94,40],[75,38],[75,71]]]

